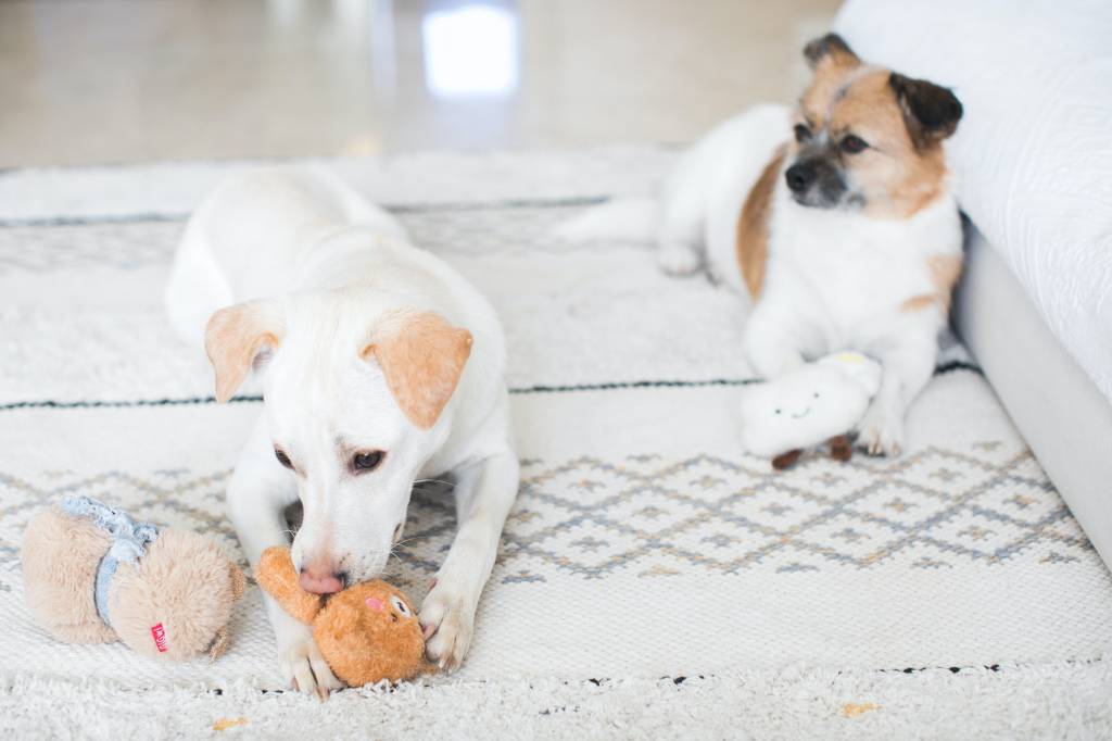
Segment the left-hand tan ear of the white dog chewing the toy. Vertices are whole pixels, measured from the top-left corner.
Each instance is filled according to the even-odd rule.
[[[281,305],[260,299],[222,308],[209,319],[205,352],[216,373],[216,401],[231,398],[266,346],[277,348],[286,330]]]

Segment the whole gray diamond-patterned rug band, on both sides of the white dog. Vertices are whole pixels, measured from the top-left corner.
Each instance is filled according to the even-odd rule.
[[[846,464],[814,457],[786,472],[749,456],[535,460],[507,520],[495,577],[530,583],[617,573],[946,569],[1027,554],[1064,567],[1095,559],[1029,452],[972,449],[931,447]],[[942,484],[941,471],[959,475]],[[241,557],[225,516],[229,475],[51,471],[32,482],[0,473],[0,589],[18,569],[30,516],[72,494],[206,533]],[[454,505],[445,490],[437,484],[414,493],[405,540],[387,572],[403,589],[427,583],[451,544]]]

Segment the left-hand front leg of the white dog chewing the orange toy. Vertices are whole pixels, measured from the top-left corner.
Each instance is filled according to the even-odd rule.
[[[275,461],[265,421],[260,419],[228,485],[228,515],[252,569],[266,549],[289,545],[285,510],[296,501],[297,488],[289,473]],[[286,680],[321,698],[342,688],[320,655],[309,626],[291,618],[266,593],[262,599]]]

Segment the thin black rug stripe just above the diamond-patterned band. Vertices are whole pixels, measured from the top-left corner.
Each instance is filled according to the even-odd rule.
[[[980,367],[963,360],[944,363],[934,369],[934,375],[943,375],[955,370],[969,370],[977,375],[984,375]],[[568,384],[562,386],[517,386],[509,389],[510,394],[568,394],[576,392],[594,391],[625,391],[632,388],[705,388],[708,386],[745,386],[757,383],[757,378],[709,378],[707,381],[618,381],[600,384]],[[230,404],[257,404],[262,401],[261,396],[234,396]],[[137,398],[137,399],[79,399],[75,402],[57,402],[53,399],[42,399],[38,402],[9,402],[0,404],[0,412],[13,412],[17,409],[100,409],[100,408],[129,408],[147,406],[198,406],[205,404],[216,404],[212,396],[186,396],[179,398]]]

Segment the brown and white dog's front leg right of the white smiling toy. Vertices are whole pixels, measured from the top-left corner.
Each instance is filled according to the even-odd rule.
[[[936,330],[909,330],[890,346],[870,350],[884,366],[881,387],[857,425],[870,455],[900,455],[904,417],[931,376],[939,355]]]

